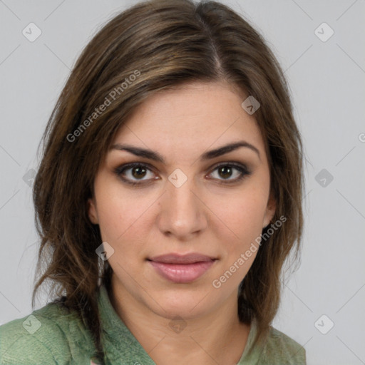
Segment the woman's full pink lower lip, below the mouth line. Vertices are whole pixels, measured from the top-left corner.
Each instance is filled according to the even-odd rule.
[[[195,262],[194,264],[165,264],[150,261],[158,273],[170,282],[189,283],[198,279],[214,264],[214,261]]]

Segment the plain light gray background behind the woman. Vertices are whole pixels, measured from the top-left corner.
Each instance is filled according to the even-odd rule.
[[[31,169],[43,128],[92,34],[134,3],[0,1],[1,324],[31,313],[38,246]],[[304,345],[308,364],[365,364],[365,1],[222,3],[279,59],[305,147],[302,264],[287,276],[274,326]],[[31,22],[42,32],[34,42],[22,34]],[[326,41],[323,22],[334,31]],[[37,307],[46,293],[40,299]]]

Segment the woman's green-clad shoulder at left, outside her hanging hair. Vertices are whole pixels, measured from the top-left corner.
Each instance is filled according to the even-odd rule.
[[[87,364],[81,356],[90,359],[91,353],[91,334],[75,312],[60,304],[49,303],[0,326],[0,364],[61,365],[76,358]]]

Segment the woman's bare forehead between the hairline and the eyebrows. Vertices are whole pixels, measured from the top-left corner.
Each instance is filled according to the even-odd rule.
[[[133,143],[162,154],[202,152],[247,140],[264,154],[254,115],[241,106],[247,95],[227,83],[185,84],[146,99],[120,127],[113,143]]]

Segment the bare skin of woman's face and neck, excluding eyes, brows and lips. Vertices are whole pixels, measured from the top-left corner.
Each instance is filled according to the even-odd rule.
[[[113,144],[154,150],[165,164],[110,150],[96,175],[88,215],[114,250],[110,301],[156,364],[237,364],[245,349],[250,324],[237,317],[237,291],[257,252],[220,288],[212,282],[274,216],[264,140],[255,114],[241,106],[247,96],[226,83],[201,82],[155,94],[118,130]],[[259,155],[244,147],[200,160],[207,150],[238,140],[254,145]],[[134,162],[149,166],[142,175],[130,168],[123,177],[141,185],[128,185],[114,171]],[[230,162],[247,166],[250,175],[234,182],[239,170],[216,168]],[[177,168],[187,177],[180,187],[168,180]],[[233,183],[220,184],[227,180]],[[195,282],[174,283],[146,260],[172,252],[217,260]],[[176,316],[185,324],[179,333],[169,325]]]

